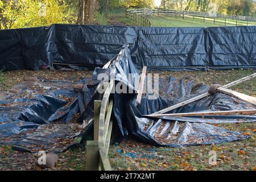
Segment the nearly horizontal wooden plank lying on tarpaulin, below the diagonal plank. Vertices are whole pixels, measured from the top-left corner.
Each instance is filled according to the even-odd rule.
[[[163,116],[232,115],[232,114],[256,114],[256,109],[225,110],[225,111],[205,111],[205,112],[195,112],[195,113],[152,114],[152,115],[146,115],[146,116],[150,116],[150,117],[163,117]]]

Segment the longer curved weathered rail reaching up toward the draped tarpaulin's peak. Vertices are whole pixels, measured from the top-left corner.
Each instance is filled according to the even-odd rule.
[[[105,146],[105,140],[104,140],[104,126],[105,126],[105,113],[106,109],[108,107],[108,100],[110,93],[114,86],[114,80],[110,80],[108,88],[106,88],[106,91],[104,93],[104,96],[102,98],[101,102],[101,110],[100,110],[100,119],[99,119],[99,130],[98,130],[98,142],[100,147]]]

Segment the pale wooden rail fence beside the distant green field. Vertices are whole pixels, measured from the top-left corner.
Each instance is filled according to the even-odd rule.
[[[221,23],[221,25],[255,25],[256,18],[251,16],[234,16],[234,15],[223,15],[217,13],[207,13],[200,11],[179,11],[179,10],[167,10],[167,9],[131,9],[127,10],[127,17],[134,20],[139,26],[151,26],[150,20],[145,17],[147,16],[172,16],[175,18],[190,18],[200,19],[202,22],[211,21],[213,24]],[[147,23],[143,22],[143,18],[147,20]]]

